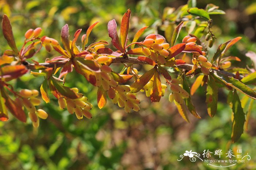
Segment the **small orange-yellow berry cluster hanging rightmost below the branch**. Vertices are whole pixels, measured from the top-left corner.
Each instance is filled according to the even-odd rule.
[[[173,102],[174,100],[179,104],[182,105],[184,102],[184,98],[189,98],[189,94],[186,90],[183,89],[182,84],[180,84],[179,79],[172,79],[170,83],[170,89],[172,93],[169,95],[169,101]]]

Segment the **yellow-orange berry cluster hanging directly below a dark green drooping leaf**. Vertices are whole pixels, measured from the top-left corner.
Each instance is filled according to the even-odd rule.
[[[78,119],[82,119],[83,116],[86,118],[92,118],[92,114],[89,112],[89,110],[92,109],[93,105],[88,102],[87,97],[83,96],[82,93],[79,93],[78,88],[71,88],[73,91],[75,91],[78,96],[80,96],[78,99],[69,99],[67,97],[60,97],[58,99],[58,103],[60,106],[60,109],[65,109],[67,107],[67,110],[70,114],[73,114],[75,112],[76,117]]]

